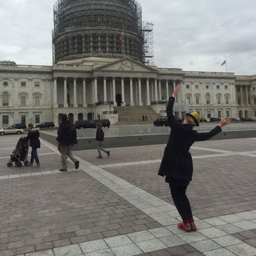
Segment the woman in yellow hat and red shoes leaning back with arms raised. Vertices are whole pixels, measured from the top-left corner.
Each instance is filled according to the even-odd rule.
[[[194,142],[205,141],[221,132],[221,128],[230,124],[231,119],[221,119],[217,127],[210,132],[204,133],[198,133],[193,130],[193,127],[199,126],[201,119],[197,112],[186,114],[186,118],[182,124],[176,122],[173,107],[175,97],[179,90],[180,87],[176,87],[166,107],[168,122],[171,126],[171,134],[164,150],[164,157],[161,161],[158,174],[166,177],[165,181],[169,183],[174,204],[183,220],[182,223],[178,223],[178,228],[189,232],[191,230],[196,231],[191,205],[186,196],[186,188],[190,181],[192,181],[193,175],[193,162],[189,149]]]

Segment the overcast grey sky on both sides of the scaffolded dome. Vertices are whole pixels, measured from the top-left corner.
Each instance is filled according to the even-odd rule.
[[[139,0],[159,68],[256,74],[255,0]],[[0,0],[0,60],[52,65],[55,0]]]

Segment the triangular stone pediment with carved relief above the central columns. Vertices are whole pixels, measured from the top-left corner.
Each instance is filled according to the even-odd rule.
[[[130,58],[114,61],[94,69],[95,71],[119,71],[119,72],[158,72],[156,68],[151,68],[143,63],[139,63]]]

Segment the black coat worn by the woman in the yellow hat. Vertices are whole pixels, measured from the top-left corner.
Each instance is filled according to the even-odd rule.
[[[169,142],[164,150],[164,157],[159,169],[160,176],[168,176],[183,181],[192,181],[193,161],[189,153],[194,142],[205,141],[221,132],[219,126],[210,132],[198,133],[193,130],[191,124],[180,124],[176,122],[173,114],[175,99],[169,98],[166,108],[168,122],[171,125]]]

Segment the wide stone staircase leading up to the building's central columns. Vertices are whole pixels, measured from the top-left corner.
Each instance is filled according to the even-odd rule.
[[[156,114],[151,107],[114,107],[114,111],[117,111],[118,120],[115,125],[125,124],[153,124],[154,120],[160,117],[160,114]],[[143,122],[142,116],[146,116],[149,121]]]

